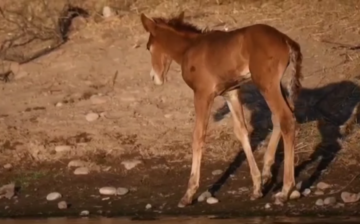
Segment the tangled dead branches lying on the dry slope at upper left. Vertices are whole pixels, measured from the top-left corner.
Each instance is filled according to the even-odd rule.
[[[46,0],[43,0],[43,4],[45,7],[48,6]],[[10,15],[17,19],[11,19]],[[54,27],[39,25],[33,21],[41,21],[41,18],[32,15],[34,18],[29,20],[18,11],[0,8],[0,16],[17,28],[17,34],[0,45],[0,59],[24,64],[44,56],[66,43],[72,20],[77,16],[88,17],[89,14],[81,8],[67,4],[59,13],[57,22],[49,15]],[[29,47],[34,48],[36,43],[43,43],[43,46],[35,51],[28,49]],[[31,52],[31,54],[25,55],[22,52]]]

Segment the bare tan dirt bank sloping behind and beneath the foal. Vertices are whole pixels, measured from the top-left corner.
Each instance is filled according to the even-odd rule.
[[[140,12],[171,16],[185,10],[186,20],[199,27],[233,29],[266,23],[299,42],[304,89],[296,111],[298,181],[329,183],[331,193],[341,200],[342,191],[360,192],[360,127],[355,124],[346,135],[340,128],[360,99],[360,51],[338,44],[360,44],[359,2],[135,2],[113,18],[77,19],[65,45],[29,63],[9,65],[15,77],[0,83],[0,184],[16,182],[20,190],[11,200],[0,199],[0,216],[78,215],[84,209],[108,216],[359,213],[358,203],[315,206],[318,198],[330,192],[271,209],[265,209],[265,204],[272,202],[273,191],[250,201],[249,169],[222,98],[213,107],[199,193],[219,178],[212,171],[225,171],[231,164],[224,176],[235,175],[220,178],[220,182],[226,179],[216,193],[220,203],[177,208],[190,173],[192,92],[174,63],[165,85],[152,83],[145,47],[148,36],[139,19]],[[242,89],[246,116],[254,129],[255,156],[262,167],[270,113],[252,85]],[[85,116],[90,112],[101,116],[89,122]],[[71,149],[56,152],[59,145]],[[74,159],[101,168],[76,176],[67,168]],[[143,163],[128,171],[121,165],[128,159]],[[281,159],[279,150],[278,162]],[[12,168],[3,168],[6,164]],[[274,170],[280,180],[281,164]],[[98,189],[107,185],[127,187],[130,192],[102,200]],[[47,202],[46,194],[52,191],[61,192],[71,207],[59,210],[57,203]],[[148,203],[152,208],[146,210]]]

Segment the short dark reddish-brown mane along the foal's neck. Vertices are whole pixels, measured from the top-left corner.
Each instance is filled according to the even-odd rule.
[[[170,26],[174,30],[178,30],[178,31],[199,33],[199,34],[207,32],[206,30],[202,30],[202,29],[196,27],[195,25],[184,22],[183,20],[180,20],[180,19],[178,19],[176,17],[175,18],[170,18],[170,19],[165,19],[165,18],[162,18],[162,17],[156,17],[156,18],[153,18],[153,20],[157,24],[163,24],[163,25],[166,25],[166,26]]]

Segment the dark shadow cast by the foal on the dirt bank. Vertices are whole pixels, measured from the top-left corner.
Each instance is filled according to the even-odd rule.
[[[356,120],[360,119],[360,113],[355,114],[360,102],[360,86],[356,83],[360,83],[360,78],[355,78],[353,81],[331,83],[321,88],[302,89],[295,104],[295,116],[300,124],[317,121],[320,143],[315,146],[308,159],[295,167],[295,178],[297,178],[309,165],[318,162],[314,172],[302,182],[301,189],[305,189],[317,181],[322,171],[329,166],[336,154],[341,150],[337,140],[344,138],[348,133],[347,131],[351,129],[350,127],[353,127],[352,125],[356,123]],[[254,131],[251,134],[251,142],[253,149],[256,149],[259,143],[268,136],[269,131],[267,130],[272,129],[271,113],[263,97],[253,84],[247,83],[241,87],[241,98],[242,102],[252,112],[250,123]],[[220,121],[228,113],[229,109],[224,104],[214,114],[214,120]],[[312,135],[304,133],[306,127],[305,130],[301,129],[296,137],[297,143],[303,142],[301,138]],[[272,167],[273,180],[264,188],[264,194],[267,194],[270,190],[278,190],[282,185],[282,181],[275,184],[280,164],[283,161],[282,148],[281,140],[275,164]],[[215,194],[245,160],[245,154],[241,150],[223,175],[209,188],[209,192]],[[259,168],[262,167],[259,166]]]

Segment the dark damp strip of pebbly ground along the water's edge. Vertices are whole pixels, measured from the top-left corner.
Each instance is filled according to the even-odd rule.
[[[161,166],[160,166],[160,165]],[[231,216],[322,216],[322,215],[359,215],[359,205],[349,204],[338,208],[336,206],[316,206],[318,198],[324,196],[311,195],[296,201],[291,201],[285,207],[271,205],[265,209],[265,204],[272,202],[271,194],[258,201],[249,200],[248,188],[251,180],[248,176],[248,167],[242,166],[216,194],[220,203],[208,205],[206,202],[180,209],[177,202],[184,191],[184,177],[187,177],[190,167],[180,163],[166,163],[164,160],[145,161],[133,170],[126,171],[122,167],[112,164],[111,171],[92,173],[86,176],[74,176],[71,170],[63,168],[62,164],[31,167],[28,171],[8,172],[2,178],[8,181],[15,180],[22,188],[15,199],[0,201],[1,216],[78,216],[82,210],[90,211],[91,215],[104,216],[132,216],[156,217],[167,215],[217,215]],[[200,192],[213,184],[218,176],[211,171],[223,168],[226,163],[204,164],[203,178]],[[323,175],[327,183],[333,184],[331,190],[339,201],[343,185],[351,181],[351,176],[342,175],[344,170],[333,170]],[[351,173],[350,170],[346,172]],[[359,191],[360,180],[351,182],[347,190]],[[130,192],[125,196],[101,196],[98,189],[102,186],[127,187]],[[58,191],[62,199],[71,204],[67,210],[59,210],[57,203],[46,201],[46,195],[51,191]],[[106,200],[108,198],[108,200]],[[145,209],[151,204],[151,209]]]

